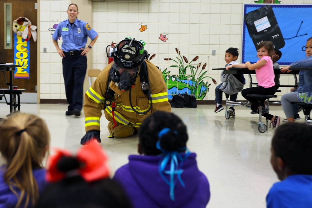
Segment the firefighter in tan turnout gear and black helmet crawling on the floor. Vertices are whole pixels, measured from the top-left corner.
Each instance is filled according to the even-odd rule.
[[[161,71],[147,60],[145,42],[125,38],[114,48],[107,65],[85,93],[85,130],[80,143],[100,139],[101,110],[109,120],[110,137],[125,138],[156,110],[171,112]]]

